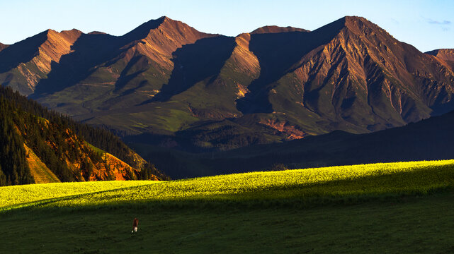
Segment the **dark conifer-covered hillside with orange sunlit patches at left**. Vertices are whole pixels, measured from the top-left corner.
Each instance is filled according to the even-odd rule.
[[[118,138],[103,140],[106,149],[113,152],[127,149],[123,157],[133,163],[121,161],[76,134],[79,131],[89,138],[89,134],[99,133],[99,138],[106,138],[106,131],[78,125],[42,107],[33,107],[35,102],[11,89],[0,87],[0,95],[0,186],[59,181],[158,180],[164,176],[119,143]],[[51,116],[50,120],[26,111],[27,108]],[[78,130],[82,127],[84,131]],[[123,147],[118,147],[122,144]]]

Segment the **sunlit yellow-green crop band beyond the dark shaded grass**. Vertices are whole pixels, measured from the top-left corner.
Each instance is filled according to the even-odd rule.
[[[52,183],[0,188],[0,210],[163,200],[309,200],[425,194],[454,187],[454,160],[252,172],[179,181]],[[54,198],[52,200],[52,198]]]

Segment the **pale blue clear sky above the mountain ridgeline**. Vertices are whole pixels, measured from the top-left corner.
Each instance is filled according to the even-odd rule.
[[[4,44],[48,28],[123,35],[160,16],[231,36],[263,25],[315,30],[343,16],[363,16],[422,52],[454,48],[453,0],[0,0],[0,9]]]

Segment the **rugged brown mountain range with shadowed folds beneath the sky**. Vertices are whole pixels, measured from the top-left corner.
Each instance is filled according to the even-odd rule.
[[[359,17],[237,37],[161,17],[120,37],[42,32],[0,52],[0,83],[130,142],[229,150],[453,110],[449,52],[424,54]]]

